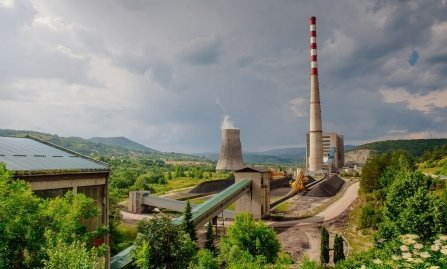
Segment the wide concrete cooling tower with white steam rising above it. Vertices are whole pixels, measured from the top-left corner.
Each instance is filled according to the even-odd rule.
[[[239,170],[245,167],[239,129],[222,129],[219,161],[216,170]]]

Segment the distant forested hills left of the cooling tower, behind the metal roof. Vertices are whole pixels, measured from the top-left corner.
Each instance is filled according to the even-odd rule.
[[[11,137],[25,137],[27,135],[48,141],[50,143],[56,144],[58,146],[79,152],[81,154],[91,156],[94,158],[100,157],[129,157],[129,156],[140,156],[145,158],[153,159],[174,159],[174,160],[197,160],[199,157],[182,154],[182,153],[164,153],[157,150],[147,148],[140,145],[130,139],[125,137],[119,139],[110,139],[108,144],[104,143],[104,138],[101,143],[96,143],[88,139],[81,137],[61,137],[58,135],[40,133],[35,131],[25,131],[25,130],[10,130],[10,129],[0,129],[0,136],[11,136]],[[114,141],[113,144],[110,141]],[[121,143],[121,145],[119,144]],[[139,147],[137,146],[139,145]],[[139,150],[144,147],[144,150]]]

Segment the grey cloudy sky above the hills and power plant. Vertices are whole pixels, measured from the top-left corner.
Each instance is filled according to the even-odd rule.
[[[0,0],[0,128],[218,151],[447,137],[447,1]]]

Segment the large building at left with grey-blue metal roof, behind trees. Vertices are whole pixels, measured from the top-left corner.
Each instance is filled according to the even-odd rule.
[[[108,224],[108,164],[33,137],[0,137],[0,162],[42,198],[68,191],[92,198],[100,213],[84,220],[89,230]],[[94,243],[103,242],[107,237]]]

